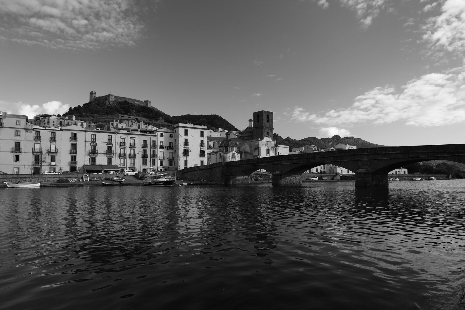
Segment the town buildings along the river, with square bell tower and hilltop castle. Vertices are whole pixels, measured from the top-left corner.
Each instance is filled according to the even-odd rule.
[[[103,97],[103,96],[102,96]],[[95,100],[90,92],[90,102]],[[132,103],[151,102],[125,97]],[[109,102],[114,95],[107,95]],[[0,171],[38,174],[45,171],[105,173],[176,171],[220,162],[355,149],[328,142],[323,147],[305,145],[289,150],[273,139],[273,112],[257,111],[243,130],[207,129],[191,123],[148,125],[140,117],[119,114],[109,123],[76,119],[74,115],[26,115],[0,112]],[[353,173],[336,165],[319,165],[308,172]],[[404,168],[390,174],[407,174]]]

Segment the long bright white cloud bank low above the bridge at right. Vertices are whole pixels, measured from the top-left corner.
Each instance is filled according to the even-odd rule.
[[[396,121],[413,126],[442,126],[465,121],[465,66],[425,74],[402,88],[402,92],[397,92],[393,86],[376,87],[355,98],[352,106],[327,112],[310,113],[295,107],[291,120],[348,126]]]

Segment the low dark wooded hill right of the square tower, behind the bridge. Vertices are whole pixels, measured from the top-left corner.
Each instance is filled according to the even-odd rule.
[[[280,145],[289,145],[289,151],[292,151],[293,148],[303,147],[305,145],[316,145],[318,147],[322,147],[325,143],[328,143],[328,142],[335,142],[336,144],[343,143],[346,145],[355,145],[357,146],[357,148],[388,146],[388,145],[374,144],[374,143],[365,141],[360,138],[355,138],[355,137],[341,138],[339,135],[332,136],[331,138],[319,139],[317,137],[308,137],[308,138],[296,140],[290,137],[287,137],[286,139],[284,139],[283,137],[279,136],[278,133],[275,133],[273,134],[273,139],[275,139],[276,143]]]

